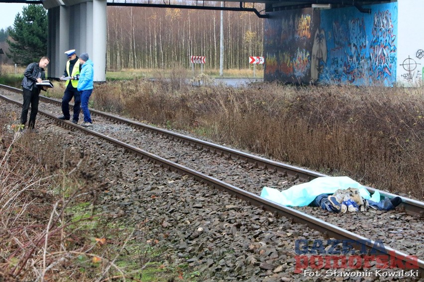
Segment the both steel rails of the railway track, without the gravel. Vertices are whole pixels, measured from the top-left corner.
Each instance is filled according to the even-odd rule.
[[[3,86],[4,87],[4,86]],[[4,89],[4,88],[3,88]],[[19,92],[19,89],[15,88],[5,88],[9,91]],[[10,103],[19,104],[16,101],[12,101],[5,96],[1,96],[3,100],[6,100]],[[46,97],[41,98],[42,101],[50,103],[50,104],[57,104],[60,105],[60,101],[49,99]],[[42,107],[40,107],[42,108]],[[173,133],[170,131],[150,127],[148,125],[143,125],[141,123],[137,123],[134,121],[130,121],[127,119],[122,119],[120,117],[116,117],[113,115],[109,115],[106,113],[102,113],[99,111],[91,110],[94,115],[97,115],[99,117],[102,117],[103,119],[107,119],[108,121],[112,121],[114,123],[118,124],[125,124],[131,128],[134,128],[136,130],[143,131],[144,133],[152,134],[153,136],[156,136],[156,138],[165,139],[167,141],[179,141],[180,143],[187,143],[189,147],[191,148],[197,148],[203,153],[210,154],[212,152],[213,155],[221,156],[221,159],[226,159],[226,161],[234,161],[236,163],[244,164],[246,167],[249,167],[250,169],[256,169],[260,171],[260,173],[270,173],[270,174],[276,174],[278,177],[286,177],[290,179],[297,179],[300,181],[308,181],[312,180],[319,176],[325,176],[322,174],[319,174],[317,172],[309,171],[302,168],[297,168],[293,166],[289,166],[287,164],[275,162],[272,160],[267,160],[265,158],[261,158],[258,156],[254,156],[245,152],[241,152],[238,150],[234,150],[231,148],[227,148],[224,146],[216,145],[211,142],[198,140],[192,137],[187,137],[178,133]],[[141,158],[145,158],[148,161],[151,161],[153,163],[159,164],[160,166],[163,166],[165,169],[178,172],[183,175],[188,175],[190,177],[193,177],[197,179],[201,183],[205,183],[210,185],[213,188],[226,191],[230,194],[236,195],[238,198],[245,200],[249,202],[252,205],[259,206],[267,211],[273,212],[277,216],[285,216],[288,218],[292,218],[295,222],[299,222],[302,224],[307,224],[311,228],[314,228],[318,231],[323,232],[328,237],[338,238],[338,239],[348,239],[348,240],[354,240],[355,242],[360,242],[361,246],[366,246],[367,248],[371,249],[377,249],[378,252],[381,252],[383,254],[395,256],[396,258],[402,260],[403,262],[408,262],[410,257],[408,257],[407,254],[399,252],[393,248],[385,246],[384,248],[379,248],[379,245],[376,244],[375,240],[370,240],[364,236],[357,235],[355,233],[352,233],[348,230],[345,230],[343,228],[340,228],[338,226],[335,226],[333,224],[328,224],[324,220],[318,219],[314,216],[311,216],[307,213],[298,211],[296,209],[291,209],[288,207],[277,205],[273,202],[266,201],[265,199],[259,197],[257,193],[254,193],[255,191],[249,192],[244,189],[241,189],[235,185],[231,185],[225,181],[221,181],[217,178],[214,178],[210,175],[207,175],[205,173],[199,172],[198,170],[189,168],[186,165],[182,165],[180,163],[176,163],[173,161],[170,161],[169,159],[166,159],[164,157],[161,157],[157,154],[153,154],[148,152],[147,150],[143,150],[140,148],[140,146],[128,144],[126,141],[118,140],[117,138],[113,138],[111,136],[106,136],[100,132],[96,132],[95,130],[87,130],[82,128],[81,126],[74,125],[69,122],[60,121],[56,118],[56,115],[49,114],[44,111],[40,111],[40,114],[45,115],[49,119],[54,120],[54,123],[57,125],[60,125],[62,127],[65,127],[67,129],[78,129],[82,130],[85,133],[91,134],[93,136],[96,136],[97,138],[101,138],[104,140],[107,140],[108,142],[113,143],[116,146],[122,147],[127,151],[132,152],[135,155],[140,156]],[[119,136],[119,134],[118,134]],[[180,161],[179,161],[180,162]],[[368,188],[371,193],[374,192],[374,189]],[[381,194],[385,197],[392,198],[396,195],[390,194],[390,193],[383,193]],[[416,217],[423,216],[423,203],[407,199],[402,197],[404,210],[408,212],[409,214],[413,214]],[[403,212],[401,210],[401,217]],[[423,268],[424,268],[424,262],[422,260],[418,260],[418,266],[420,270],[420,275],[423,275]]]

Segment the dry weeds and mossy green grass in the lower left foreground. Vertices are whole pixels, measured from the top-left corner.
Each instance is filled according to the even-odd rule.
[[[0,281],[144,279],[151,247],[130,219],[98,213],[107,183],[84,154],[60,136],[13,133],[13,116],[0,113]]]

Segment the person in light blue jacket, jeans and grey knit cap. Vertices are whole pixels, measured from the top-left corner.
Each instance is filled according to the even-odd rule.
[[[94,69],[93,61],[89,59],[87,53],[80,55],[81,72],[78,80],[77,89],[81,93],[81,108],[83,109],[84,122],[81,124],[83,127],[89,127],[93,125],[90,111],[88,109],[88,102],[93,92],[93,78]]]

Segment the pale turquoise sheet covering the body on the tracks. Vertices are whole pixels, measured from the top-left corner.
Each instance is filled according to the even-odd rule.
[[[347,188],[358,188],[362,198],[374,202],[380,201],[380,193],[378,191],[371,197],[365,186],[347,176],[318,177],[281,192],[277,189],[264,186],[261,197],[283,206],[303,207],[311,204],[320,194],[333,194],[337,189]]]

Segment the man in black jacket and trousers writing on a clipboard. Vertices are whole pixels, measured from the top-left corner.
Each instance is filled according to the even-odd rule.
[[[29,64],[23,73],[21,84],[23,88],[23,105],[22,113],[20,115],[20,123],[25,127],[29,105],[31,105],[31,114],[29,115],[28,123],[29,129],[34,129],[35,126],[35,118],[38,113],[38,101],[40,99],[40,91],[42,88],[42,86],[39,87],[36,83],[41,83],[44,79],[46,79],[44,68],[47,67],[49,63],[49,58],[42,57],[40,62]]]

